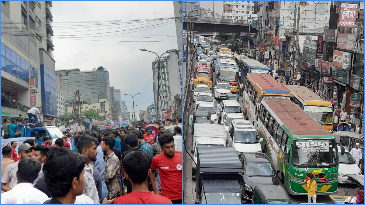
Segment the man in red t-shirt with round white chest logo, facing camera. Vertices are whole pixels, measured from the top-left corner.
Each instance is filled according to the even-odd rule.
[[[155,169],[158,168],[162,192],[157,190],[155,183],[152,183],[153,192],[167,197],[173,204],[181,204],[181,186],[183,185],[182,155],[175,152],[174,138],[171,134],[159,136],[158,143],[160,143],[164,152],[156,155],[152,160],[150,181],[155,181]]]

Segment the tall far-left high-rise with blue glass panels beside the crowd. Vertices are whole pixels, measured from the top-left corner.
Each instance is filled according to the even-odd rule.
[[[52,1],[1,1],[1,92],[27,107],[41,106],[41,113],[48,116],[43,121],[54,125],[57,91],[51,7]],[[10,98],[2,99],[1,106],[19,111]],[[20,111],[26,115],[27,111]]]

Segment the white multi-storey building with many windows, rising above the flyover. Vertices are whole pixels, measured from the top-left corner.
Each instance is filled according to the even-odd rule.
[[[223,19],[252,21],[257,19],[255,1],[223,1]]]

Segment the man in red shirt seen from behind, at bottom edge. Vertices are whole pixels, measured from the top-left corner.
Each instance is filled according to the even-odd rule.
[[[147,177],[152,174],[149,162],[143,152],[130,152],[124,157],[125,176],[132,184],[132,192],[116,198],[114,204],[172,204],[168,198],[148,190]]]

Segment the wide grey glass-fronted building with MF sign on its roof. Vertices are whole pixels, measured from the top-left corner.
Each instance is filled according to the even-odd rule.
[[[99,103],[100,99],[108,99],[111,102],[109,72],[104,67],[87,71],[57,70],[56,74],[64,80],[66,104],[70,105],[74,101],[76,90],[80,92],[81,101]]]

